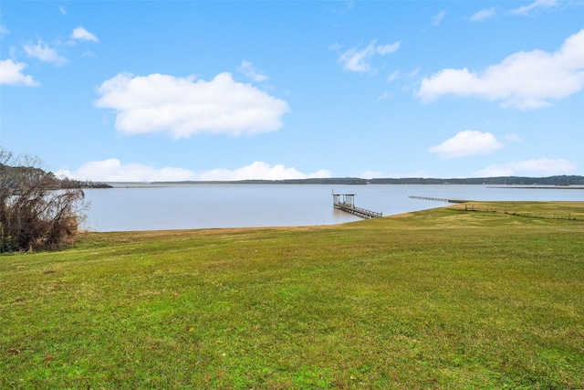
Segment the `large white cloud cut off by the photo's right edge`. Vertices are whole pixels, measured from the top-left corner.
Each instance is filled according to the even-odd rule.
[[[565,98],[584,88],[584,29],[568,37],[555,53],[518,52],[482,72],[443,69],[422,79],[422,100],[443,95],[500,100],[504,107],[533,110],[550,100]]]

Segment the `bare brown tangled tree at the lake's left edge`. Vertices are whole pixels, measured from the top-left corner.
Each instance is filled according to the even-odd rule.
[[[78,234],[80,188],[62,188],[30,156],[0,149],[0,252],[62,248]]]

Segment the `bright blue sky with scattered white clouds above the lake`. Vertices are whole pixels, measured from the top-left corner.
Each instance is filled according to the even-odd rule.
[[[584,174],[584,2],[0,4],[0,144],[96,181]]]

